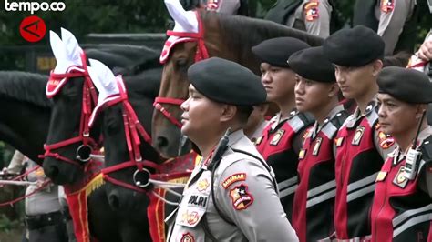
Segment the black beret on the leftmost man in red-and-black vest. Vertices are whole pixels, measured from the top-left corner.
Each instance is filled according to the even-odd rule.
[[[292,37],[279,37],[262,41],[252,47],[252,53],[262,62],[272,66],[290,67],[286,61],[294,52],[310,47],[305,42]]]

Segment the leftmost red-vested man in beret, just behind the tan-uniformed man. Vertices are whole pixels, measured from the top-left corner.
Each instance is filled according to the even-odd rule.
[[[261,81],[267,92],[267,101],[275,103],[280,112],[264,128],[255,141],[258,151],[273,167],[279,187],[279,197],[291,221],[293,197],[297,188],[298,154],[306,126],[312,116],[295,109],[295,73],[288,58],[309,45],[292,37],[279,37],[263,41],[252,47],[252,53],[261,60]]]

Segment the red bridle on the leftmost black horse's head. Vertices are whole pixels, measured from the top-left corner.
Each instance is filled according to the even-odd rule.
[[[96,93],[95,86],[93,86],[93,82],[88,75],[87,72],[87,64],[86,64],[86,55],[84,52],[81,55],[83,66],[70,66],[67,70],[67,73],[65,74],[55,74],[51,72],[50,79],[63,79],[67,78],[67,81],[69,78],[72,77],[84,77],[84,84],[83,84],[83,100],[82,100],[82,108],[81,108],[81,117],[80,117],[80,124],[79,124],[79,133],[78,136],[69,138],[67,140],[63,140],[54,144],[45,144],[44,149],[45,153],[44,155],[40,155],[40,158],[46,158],[46,157],[53,157],[55,159],[67,162],[69,164],[75,165],[75,166],[81,166],[80,162],[87,162],[90,160],[90,157],[83,158],[81,157],[81,152],[83,149],[88,149],[88,152],[91,153],[93,150],[95,150],[98,146],[98,143],[90,137],[90,128],[88,126],[88,119],[91,115],[91,112],[93,110],[93,107],[96,106],[98,103],[98,94]],[[61,88],[61,87],[60,87]],[[82,143],[81,146],[78,146],[77,148],[77,160],[80,162],[77,162],[77,160],[73,160],[70,158],[67,158],[65,156],[60,155],[57,152],[53,152],[56,149],[70,146],[72,144],[76,143]]]

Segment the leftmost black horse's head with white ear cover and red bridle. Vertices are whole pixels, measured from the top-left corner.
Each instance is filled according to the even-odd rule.
[[[46,85],[46,96],[53,99],[45,145],[44,170],[57,184],[76,182],[96,142],[90,136],[87,118],[97,94],[87,74],[87,60],[77,39],[66,29],[62,39],[50,32],[50,44],[57,59]],[[93,100],[96,103],[96,100]]]

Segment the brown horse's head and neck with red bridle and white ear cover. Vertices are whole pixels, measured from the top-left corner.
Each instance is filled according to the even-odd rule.
[[[159,97],[155,101],[152,129],[153,146],[167,157],[181,155],[180,151],[189,151],[182,148],[184,138],[180,134],[181,124],[178,120],[182,113],[181,100],[188,96],[190,82],[187,70],[194,62],[218,56],[246,66],[260,75],[260,62],[252,54],[251,48],[263,40],[292,36],[313,46],[323,42],[320,37],[270,21],[206,11],[184,12],[177,9],[176,12],[169,5],[167,7],[176,25],[175,32],[167,32],[170,38],[160,56],[164,67]],[[195,15],[195,20],[190,12]],[[178,15],[183,17],[178,18]],[[189,23],[184,24],[184,19],[188,19]]]

